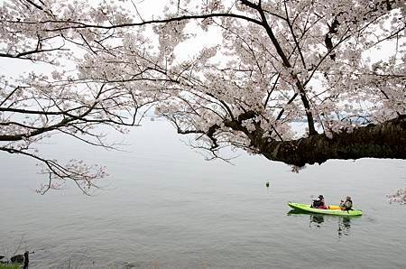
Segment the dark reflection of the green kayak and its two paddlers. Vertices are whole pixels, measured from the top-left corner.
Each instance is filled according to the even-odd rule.
[[[338,238],[343,237],[343,236],[349,236],[350,234],[350,229],[351,229],[351,218],[359,218],[360,216],[328,216],[328,215],[322,215],[322,214],[314,214],[314,213],[309,213],[309,212],[304,212],[300,210],[295,210],[291,209],[291,211],[288,212],[288,216],[290,215],[303,215],[309,216],[309,227],[310,228],[319,228],[322,227],[325,222],[325,218],[328,218],[329,221],[328,223],[335,222],[337,221],[337,235]]]

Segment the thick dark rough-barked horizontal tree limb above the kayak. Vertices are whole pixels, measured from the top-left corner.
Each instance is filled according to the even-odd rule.
[[[334,134],[332,139],[324,134],[286,142],[265,142],[258,138],[254,138],[253,144],[257,144],[266,158],[297,166],[329,159],[406,159],[406,116],[380,125],[358,127],[352,133]]]

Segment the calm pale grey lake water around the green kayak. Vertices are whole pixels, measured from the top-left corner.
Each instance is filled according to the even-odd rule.
[[[405,268],[406,206],[385,194],[404,186],[406,161],[330,161],[293,173],[245,153],[234,165],[207,162],[183,138],[147,121],[126,152],[63,137],[43,144],[49,157],[108,167],[93,197],[71,184],[39,195],[35,162],[1,153],[0,255],[21,245],[19,253],[35,252],[30,268]],[[318,194],[335,204],[350,195],[364,216],[289,213],[287,201]]]

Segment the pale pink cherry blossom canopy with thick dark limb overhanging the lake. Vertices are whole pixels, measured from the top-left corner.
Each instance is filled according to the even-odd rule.
[[[152,104],[213,157],[406,159],[401,0],[178,0],[149,15],[134,1],[21,0],[1,13],[1,56],[54,69],[3,79],[3,151],[134,125]]]

